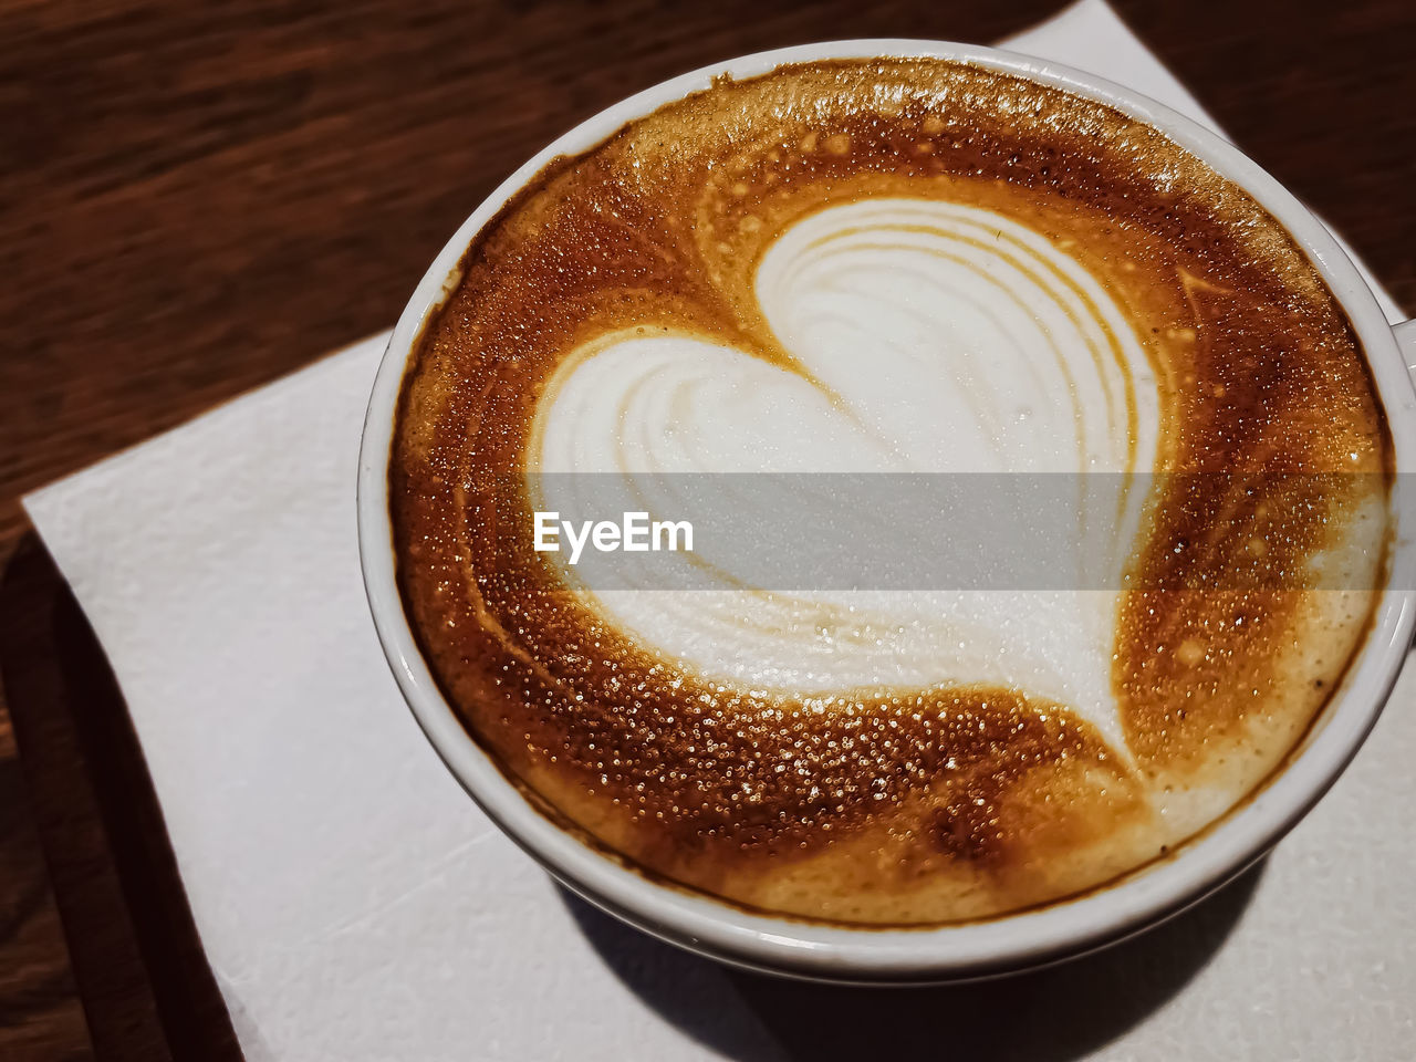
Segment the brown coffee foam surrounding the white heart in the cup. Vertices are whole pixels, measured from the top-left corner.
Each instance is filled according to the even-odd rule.
[[[1304,497],[1184,479],[1151,500],[1127,562],[1164,576],[1148,585],[1194,589],[1120,595],[1119,739],[1007,683],[714,677],[531,549],[517,484],[538,413],[606,337],[687,336],[838,395],[766,312],[759,266],[803,219],[885,200],[991,211],[1078,262],[1124,317],[1116,343],[1148,364],[1160,467],[1375,473]],[[1144,419],[1133,377],[1099,377],[1120,411],[1107,445],[1129,462]],[[547,167],[477,235],[429,324],[389,469],[399,583],[429,664],[547,813],[685,886],[872,923],[1087,888],[1260,783],[1340,678],[1374,595],[1205,588],[1239,565],[1351,561],[1359,528],[1351,562],[1375,578],[1385,517],[1359,515],[1383,511],[1389,473],[1352,331],[1262,208],[1117,112],[942,61],[721,82]],[[809,603],[793,616],[845,633]]]

